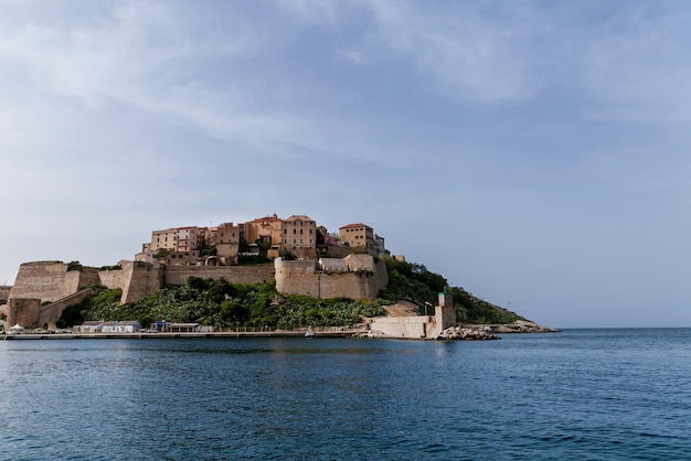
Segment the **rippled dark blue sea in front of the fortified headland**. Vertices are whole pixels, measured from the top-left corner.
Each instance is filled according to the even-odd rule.
[[[0,459],[691,459],[691,329],[0,341]]]

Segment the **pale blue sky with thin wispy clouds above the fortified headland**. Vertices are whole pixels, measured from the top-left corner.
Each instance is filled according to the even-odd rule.
[[[689,2],[0,10],[0,285],[306,214],[541,324],[691,326]]]

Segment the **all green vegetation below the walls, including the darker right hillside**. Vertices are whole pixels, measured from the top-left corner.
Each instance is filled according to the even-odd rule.
[[[63,313],[59,328],[81,324],[87,320],[138,320],[142,325],[159,320],[196,322],[216,329],[294,329],[298,326],[343,326],[361,321],[361,317],[384,314],[382,304],[407,300],[423,312],[425,302],[437,303],[439,292],[454,297],[457,315],[468,323],[511,323],[515,313],[483,301],[460,287],[448,287],[444,277],[424,265],[386,258],[389,286],[378,301],[347,298],[315,299],[281,294],[272,283],[236,285],[190,277],[183,286],[169,286],[135,302],[119,304],[120,290],[89,287],[97,294]]]

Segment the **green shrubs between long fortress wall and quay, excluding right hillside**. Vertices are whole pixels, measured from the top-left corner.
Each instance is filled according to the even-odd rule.
[[[341,326],[360,322],[362,317],[384,313],[376,301],[346,298],[313,299],[279,294],[274,285],[235,285],[225,279],[190,277],[183,286],[169,286],[156,293],[118,305],[120,290],[103,290],[79,305],[66,309],[62,324],[86,320],[138,320],[149,325],[158,320],[198,322],[217,329],[238,326],[294,329],[298,326]]]

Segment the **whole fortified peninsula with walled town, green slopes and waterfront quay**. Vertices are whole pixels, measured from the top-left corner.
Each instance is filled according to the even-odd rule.
[[[391,255],[370,226],[329,234],[306,215],[153,230],[134,260],[100,268],[25,262],[0,309],[8,332],[35,333],[313,328],[371,337],[487,339],[497,325],[553,331]]]

